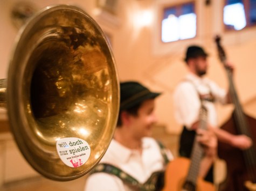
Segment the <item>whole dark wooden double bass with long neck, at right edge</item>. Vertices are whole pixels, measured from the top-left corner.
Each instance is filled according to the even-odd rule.
[[[226,161],[227,167],[227,177],[221,190],[256,190],[256,120],[244,113],[233,83],[232,72],[226,67],[226,54],[220,45],[220,37],[216,36],[215,41],[219,60],[224,64],[229,80],[230,97],[234,105],[231,118],[220,128],[231,134],[246,135],[253,141],[253,145],[246,150],[218,142],[218,156]]]

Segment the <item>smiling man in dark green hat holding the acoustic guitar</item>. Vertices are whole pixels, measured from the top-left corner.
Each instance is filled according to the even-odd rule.
[[[85,190],[158,190],[172,153],[151,138],[155,98],[137,82],[120,84],[120,113],[108,150],[89,175]]]

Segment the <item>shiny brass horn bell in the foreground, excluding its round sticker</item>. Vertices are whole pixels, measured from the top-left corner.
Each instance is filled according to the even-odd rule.
[[[79,178],[103,157],[119,112],[119,82],[108,41],[86,12],[54,5],[32,17],[19,32],[2,90],[17,145],[45,177]],[[60,160],[56,142],[66,137],[91,147],[84,165]]]

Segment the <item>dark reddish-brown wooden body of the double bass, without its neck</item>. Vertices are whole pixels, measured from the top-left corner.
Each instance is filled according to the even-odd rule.
[[[253,145],[256,145],[256,120],[251,116],[245,114],[244,116],[248,122],[248,126],[251,129]],[[221,128],[229,131],[232,134],[238,134],[234,115],[232,115],[232,117]],[[247,160],[250,160],[250,158],[247,158],[246,154],[244,153],[246,151],[241,151],[240,149],[234,148],[222,142],[219,142],[218,145],[218,155],[220,158],[226,161],[227,166],[227,178],[224,185],[221,187],[221,190],[249,190],[246,188],[245,184],[248,180],[254,183],[256,181],[256,161],[252,160],[252,164],[247,164]],[[255,148],[251,149],[254,149],[252,152],[256,152]],[[251,177],[254,178],[254,180],[250,180]]]

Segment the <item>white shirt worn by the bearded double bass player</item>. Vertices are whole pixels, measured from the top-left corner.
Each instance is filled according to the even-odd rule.
[[[204,77],[200,78],[192,73],[178,84],[174,92],[175,118],[178,123],[191,128],[192,124],[198,121],[201,102],[199,94],[212,93],[216,101],[225,104],[226,91],[221,89],[216,83]],[[217,112],[215,103],[204,102],[207,108],[207,120],[211,126],[217,126]]]

